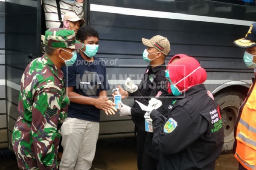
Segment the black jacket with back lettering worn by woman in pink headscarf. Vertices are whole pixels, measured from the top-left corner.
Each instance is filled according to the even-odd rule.
[[[158,170],[214,170],[224,132],[219,105],[203,84],[185,92],[169,116],[153,110],[153,144],[160,151]]]

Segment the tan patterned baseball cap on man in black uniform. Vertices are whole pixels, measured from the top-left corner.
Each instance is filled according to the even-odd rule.
[[[166,37],[156,35],[152,37],[150,40],[142,38],[142,43],[148,47],[154,47],[164,55],[168,55],[171,47],[170,42],[167,40]]]

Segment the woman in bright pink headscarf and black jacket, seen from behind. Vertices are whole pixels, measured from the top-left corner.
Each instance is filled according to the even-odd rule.
[[[202,84],[206,71],[193,57],[183,57],[168,65],[166,77],[177,101],[167,116],[150,113],[153,144],[160,151],[157,170],[214,170],[224,132],[219,105]]]

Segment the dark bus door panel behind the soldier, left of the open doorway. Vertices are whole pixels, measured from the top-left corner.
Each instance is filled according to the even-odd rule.
[[[12,130],[17,112],[21,76],[32,59],[41,56],[41,1],[6,1],[6,107],[8,142],[12,148]]]

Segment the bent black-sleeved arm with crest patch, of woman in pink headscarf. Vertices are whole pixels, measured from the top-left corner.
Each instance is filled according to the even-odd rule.
[[[200,136],[198,122],[194,122],[182,107],[176,107],[166,118],[157,110],[150,113],[153,120],[153,144],[163,154],[175,154],[195,142]]]

